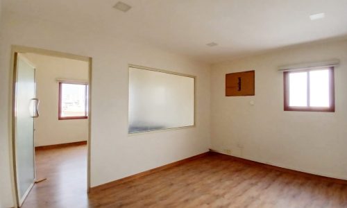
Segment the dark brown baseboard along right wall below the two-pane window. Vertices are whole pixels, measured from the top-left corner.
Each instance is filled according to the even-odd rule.
[[[316,175],[316,174],[313,174],[313,173],[306,173],[306,172],[303,172],[303,171],[296,171],[296,170],[289,169],[289,168],[282,168],[282,167],[279,167],[279,166],[273,166],[273,165],[270,165],[270,164],[264,164],[262,162],[256,162],[256,161],[253,161],[253,160],[250,160],[250,159],[244,159],[244,158],[241,158],[241,157],[235,157],[235,156],[232,156],[232,155],[227,155],[227,154],[224,154],[224,153],[220,153],[219,151],[212,150],[212,149],[210,149],[210,152],[214,153],[214,154],[218,154],[218,155],[223,155],[225,157],[228,157],[230,159],[233,159],[233,160],[236,160],[236,161],[239,161],[239,162],[242,162],[242,163],[251,164],[253,166],[261,166],[261,167],[264,167],[264,168],[271,168],[271,169],[276,170],[276,171],[281,171],[281,172],[285,172],[285,173],[301,175],[303,177],[309,177],[309,178],[312,178],[312,179],[315,179],[315,180],[324,180],[324,181],[327,181],[327,182],[334,182],[334,183],[339,183],[339,184],[347,184],[347,180],[343,180],[343,179],[339,179],[339,178],[335,178],[335,177],[327,177],[327,176],[323,176],[323,175]]]

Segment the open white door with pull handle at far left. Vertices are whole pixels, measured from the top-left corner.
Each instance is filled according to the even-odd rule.
[[[35,67],[20,53],[15,54],[14,107],[15,176],[20,207],[35,183],[34,118],[38,116]]]

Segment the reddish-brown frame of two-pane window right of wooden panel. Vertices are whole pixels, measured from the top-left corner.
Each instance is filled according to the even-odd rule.
[[[328,69],[329,71],[329,107],[310,107],[310,71]],[[289,106],[289,73],[307,72],[307,107]],[[334,67],[319,67],[314,69],[298,69],[283,72],[284,110],[302,112],[335,112],[335,78]]]

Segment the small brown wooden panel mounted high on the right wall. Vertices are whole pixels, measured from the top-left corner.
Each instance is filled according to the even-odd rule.
[[[255,71],[226,74],[226,96],[254,96]]]

